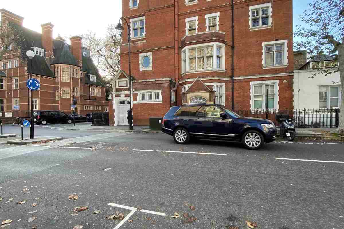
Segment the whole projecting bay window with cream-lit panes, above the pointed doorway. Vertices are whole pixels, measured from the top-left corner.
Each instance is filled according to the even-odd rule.
[[[192,45],[182,50],[182,73],[215,69],[225,69],[223,44]]]

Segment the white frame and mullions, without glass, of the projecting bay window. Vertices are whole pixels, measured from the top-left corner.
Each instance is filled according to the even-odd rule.
[[[204,69],[198,69],[198,61],[197,61],[197,48],[202,48],[204,47],[205,50],[205,54],[206,54],[206,47],[211,47],[213,46],[213,67],[211,69],[207,69],[206,68],[206,58],[205,58],[205,64],[204,64]],[[221,53],[222,53],[222,56],[221,56],[221,69],[217,69],[217,65],[216,65],[216,48],[217,47],[221,47]],[[221,72],[224,72],[226,69],[225,69],[225,50],[224,50],[225,46],[224,44],[222,43],[219,43],[219,42],[212,42],[212,43],[205,43],[205,44],[200,44],[200,45],[190,45],[190,46],[186,46],[182,49],[182,74],[183,73],[195,73],[195,72],[207,72],[207,71],[221,71]],[[190,49],[196,49],[196,70],[190,70],[190,67],[189,67],[189,50]],[[184,66],[183,66],[183,52],[185,51],[185,69],[184,69]],[[206,55],[205,55],[206,56]]]

